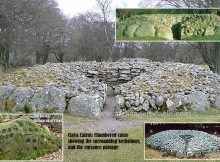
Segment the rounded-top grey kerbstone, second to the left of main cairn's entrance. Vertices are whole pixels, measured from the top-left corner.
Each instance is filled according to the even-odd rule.
[[[50,86],[36,92],[31,100],[34,112],[64,112],[66,99],[64,91]]]

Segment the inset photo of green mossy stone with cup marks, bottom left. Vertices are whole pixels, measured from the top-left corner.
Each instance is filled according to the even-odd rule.
[[[62,161],[62,114],[0,115],[0,160]]]

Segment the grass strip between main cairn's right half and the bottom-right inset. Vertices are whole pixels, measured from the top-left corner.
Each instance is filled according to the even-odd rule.
[[[119,120],[143,120],[144,122],[220,122],[220,110],[212,108],[206,112],[135,113],[124,115]]]

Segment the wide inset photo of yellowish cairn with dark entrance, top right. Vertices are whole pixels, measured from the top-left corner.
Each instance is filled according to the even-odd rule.
[[[219,41],[219,9],[116,9],[116,41]]]

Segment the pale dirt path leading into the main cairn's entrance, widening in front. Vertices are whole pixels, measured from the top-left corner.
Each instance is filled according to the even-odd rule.
[[[81,130],[90,130],[90,131],[99,131],[99,132],[112,132],[115,130],[126,129],[142,125],[141,121],[120,121],[116,120],[114,117],[114,107],[115,107],[115,98],[114,96],[108,96],[106,101],[106,107],[102,112],[102,117],[100,120],[74,124],[74,123],[65,123],[65,128],[81,129]]]

